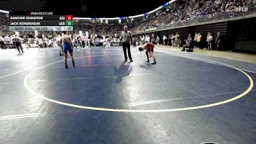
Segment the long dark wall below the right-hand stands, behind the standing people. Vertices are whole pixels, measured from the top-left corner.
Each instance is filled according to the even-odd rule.
[[[256,52],[256,18],[242,19],[214,24],[191,26],[186,28],[168,29],[164,31],[154,31],[145,35],[159,35],[160,42],[163,42],[163,35],[167,36],[179,33],[182,42],[190,33],[194,38],[195,32],[202,34],[205,42],[208,32],[213,34],[215,40],[217,33],[221,33],[221,51]],[[140,36],[143,34],[137,34]]]

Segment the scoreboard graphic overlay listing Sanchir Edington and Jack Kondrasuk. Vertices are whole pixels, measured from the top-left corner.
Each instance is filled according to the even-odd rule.
[[[73,31],[73,15],[57,12],[10,12],[9,31]]]

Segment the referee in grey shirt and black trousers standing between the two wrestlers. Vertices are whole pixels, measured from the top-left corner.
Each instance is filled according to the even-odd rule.
[[[130,59],[130,62],[132,62],[132,56],[130,51],[130,42],[132,40],[132,35],[130,31],[127,31],[127,26],[124,26],[124,31],[121,33],[120,43],[123,42],[123,50],[124,50],[124,61],[127,61],[127,53],[126,48],[128,50],[128,56]]]

